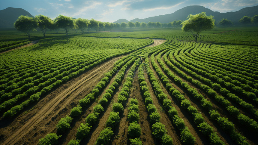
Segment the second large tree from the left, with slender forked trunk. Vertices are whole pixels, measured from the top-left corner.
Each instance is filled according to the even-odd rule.
[[[51,29],[53,25],[53,20],[51,20],[49,17],[46,17],[44,15],[38,15],[35,17],[37,22],[38,22],[38,28],[41,30],[43,33],[44,37],[46,35],[46,31],[48,29]]]

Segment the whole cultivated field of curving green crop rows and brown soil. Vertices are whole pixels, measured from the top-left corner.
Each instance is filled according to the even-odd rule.
[[[0,31],[0,144],[258,144],[257,27]]]

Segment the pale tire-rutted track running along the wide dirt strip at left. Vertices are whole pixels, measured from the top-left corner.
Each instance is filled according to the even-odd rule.
[[[24,123],[24,125],[22,125],[19,129],[13,131],[2,144],[15,144],[19,140],[21,140],[26,134],[29,134],[29,132],[32,131],[34,127],[38,125],[42,120],[48,118],[48,121],[46,122],[49,122],[52,117],[55,117],[59,112],[62,111],[62,109],[64,109],[69,103],[71,103],[71,100],[73,100],[74,97],[78,96],[81,91],[85,90],[85,88],[91,87],[92,83],[89,82],[100,79],[104,73],[106,73],[109,69],[113,67],[113,64],[116,62],[116,60],[119,60],[120,58],[122,57],[113,58],[110,61],[102,63],[101,65],[96,66],[88,71],[86,73],[87,75],[84,76],[82,79],[74,84],[71,84],[68,88],[66,88],[64,91],[61,91],[60,94],[55,96],[52,100],[49,100],[49,102],[47,102],[47,104],[45,104],[37,113],[35,113],[34,116],[28,119],[28,121]],[[82,87],[82,85],[84,86]],[[80,89],[78,90],[78,88]],[[76,91],[76,93],[70,95],[74,91]],[[62,105],[61,107],[59,107],[60,105],[58,106],[58,104],[61,101]],[[52,111],[54,111],[54,113],[52,113]]]

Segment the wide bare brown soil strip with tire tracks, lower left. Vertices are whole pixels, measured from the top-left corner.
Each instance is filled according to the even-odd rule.
[[[104,73],[110,70],[120,58],[122,57],[113,58],[96,66],[46,95],[34,106],[32,111],[25,115],[19,115],[9,125],[0,129],[1,136],[4,136],[1,143],[37,144],[38,139],[55,129],[55,125],[62,117],[69,115],[70,108],[88,94]]]

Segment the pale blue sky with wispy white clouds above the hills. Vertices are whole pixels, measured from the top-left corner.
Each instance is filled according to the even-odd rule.
[[[102,22],[171,14],[189,5],[225,13],[256,6],[258,0],[0,0],[0,10],[23,8],[33,16],[42,14],[54,19],[62,14]]]

